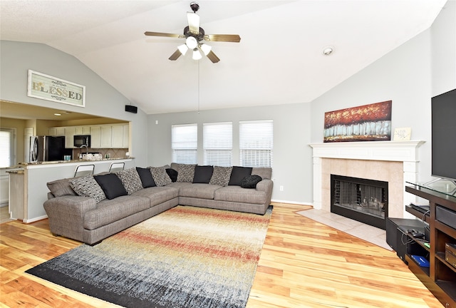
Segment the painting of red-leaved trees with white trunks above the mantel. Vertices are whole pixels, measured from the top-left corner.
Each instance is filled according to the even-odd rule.
[[[325,113],[323,142],[391,140],[392,101]]]

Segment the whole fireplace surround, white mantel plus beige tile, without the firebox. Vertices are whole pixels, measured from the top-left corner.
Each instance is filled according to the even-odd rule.
[[[424,141],[311,143],[314,153],[314,208],[331,211],[331,174],[388,182],[388,216],[412,218],[405,205],[405,181],[418,180],[418,148]]]

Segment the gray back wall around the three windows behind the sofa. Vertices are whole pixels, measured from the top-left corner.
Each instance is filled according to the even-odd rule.
[[[309,104],[232,108],[200,113],[167,113],[148,116],[148,160],[153,166],[171,163],[171,125],[198,124],[198,163],[202,164],[202,123],[233,123],[233,165],[239,165],[239,121],[274,120],[274,200],[312,202],[312,162]],[[158,121],[158,124],[155,124]],[[284,186],[280,191],[279,187]]]

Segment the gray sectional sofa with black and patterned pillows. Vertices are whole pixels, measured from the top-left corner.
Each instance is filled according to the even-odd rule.
[[[264,215],[271,168],[172,163],[48,183],[44,202],[53,235],[95,245],[176,205]]]

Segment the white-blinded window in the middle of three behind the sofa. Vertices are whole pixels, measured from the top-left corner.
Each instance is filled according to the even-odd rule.
[[[232,165],[232,127],[232,122],[204,123],[202,125],[204,165],[224,167]]]

